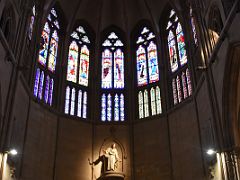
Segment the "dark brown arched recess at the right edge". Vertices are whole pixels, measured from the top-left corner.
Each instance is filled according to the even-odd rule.
[[[226,61],[223,87],[223,119],[228,148],[240,152],[240,44],[233,46]]]

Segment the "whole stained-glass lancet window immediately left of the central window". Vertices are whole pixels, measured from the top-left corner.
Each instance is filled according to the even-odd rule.
[[[71,34],[68,50],[65,114],[87,118],[90,39],[83,26]]]

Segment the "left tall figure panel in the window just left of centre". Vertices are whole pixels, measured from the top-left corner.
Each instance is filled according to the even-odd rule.
[[[75,41],[70,44],[68,53],[67,80],[77,82],[78,45]]]

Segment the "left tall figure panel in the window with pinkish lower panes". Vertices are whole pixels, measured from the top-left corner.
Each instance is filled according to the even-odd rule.
[[[169,31],[169,34],[168,34],[168,50],[169,50],[171,70],[172,72],[175,72],[178,69],[178,62],[177,62],[175,36],[172,31]]]

